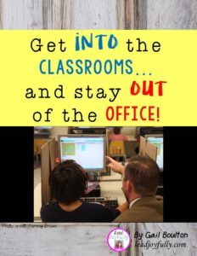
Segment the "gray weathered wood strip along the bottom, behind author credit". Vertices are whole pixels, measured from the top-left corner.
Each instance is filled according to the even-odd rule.
[[[0,224],[0,255],[197,255],[197,224]]]

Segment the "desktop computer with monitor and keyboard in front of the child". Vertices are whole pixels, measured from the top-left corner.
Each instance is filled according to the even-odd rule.
[[[75,160],[88,175],[87,196],[82,201],[94,201],[108,207],[118,207],[116,198],[100,196],[100,174],[106,172],[106,137],[104,134],[70,134],[59,136],[59,160]]]

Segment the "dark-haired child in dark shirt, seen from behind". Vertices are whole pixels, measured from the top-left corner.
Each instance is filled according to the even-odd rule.
[[[49,184],[56,201],[42,207],[43,222],[110,222],[128,207],[127,203],[116,209],[82,203],[80,198],[87,188],[87,176],[74,160],[59,163],[50,174]]]

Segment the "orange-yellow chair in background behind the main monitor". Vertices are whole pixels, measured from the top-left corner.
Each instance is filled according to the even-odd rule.
[[[125,143],[124,141],[111,141],[109,147],[110,157],[120,160],[123,159],[123,162],[126,161],[125,154]]]

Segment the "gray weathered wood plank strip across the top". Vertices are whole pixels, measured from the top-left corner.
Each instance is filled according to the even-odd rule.
[[[196,29],[196,0],[0,0],[3,29]]]

